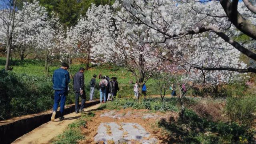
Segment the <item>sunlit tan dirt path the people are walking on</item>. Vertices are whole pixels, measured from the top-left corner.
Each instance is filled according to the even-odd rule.
[[[100,104],[96,104],[94,106],[84,108],[84,111],[94,110],[97,109],[99,106]],[[24,134],[23,136],[12,142],[12,144],[49,144],[51,143],[52,138],[60,134],[63,130],[66,129],[66,126],[68,126],[68,124],[74,122],[80,116],[81,114],[76,114],[75,112],[73,112],[64,116],[65,118],[67,118],[67,120],[60,122],[57,118],[54,122],[49,121],[32,130],[31,132]]]

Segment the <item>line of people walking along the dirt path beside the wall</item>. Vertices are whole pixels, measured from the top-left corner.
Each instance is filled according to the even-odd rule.
[[[64,118],[64,107],[66,102],[66,96],[68,95],[70,83],[70,75],[68,72],[68,64],[62,63],[61,67],[54,71],[52,76],[53,90],[54,90],[54,105],[51,120],[55,120],[56,111],[60,104],[60,121],[65,120]],[[84,87],[84,68],[80,68],[79,71],[73,77],[73,90],[75,93],[75,112],[83,112],[86,95]],[[95,86],[96,86],[96,74],[93,75],[90,81],[90,101],[93,100]],[[118,82],[116,77],[109,79],[108,76],[102,76],[100,74],[100,103],[104,103],[107,100],[113,100],[116,97],[117,91],[119,90]],[[79,97],[81,97],[81,105],[79,107]],[[111,98],[110,98],[111,97]],[[102,102],[102,98],[104,101]]]

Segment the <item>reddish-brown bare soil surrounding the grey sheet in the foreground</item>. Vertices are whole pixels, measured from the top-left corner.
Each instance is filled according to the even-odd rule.
[[[121,109],[115,112],[115,114],[125,115],[128,112],[132,112],[129,117],[125,118],[111,118],[107,116],[100,116],[105,112],[110,112],[111,110],[98,110],[95,112],[95,116],[92,117],[91,121],[88,121],[87,128],[82,128],[82,134],[86,137],[85,140],[80,141],[80,144],[96,144],[94,142],[94,136],[97,134],[98,126],[103,122],[116,122],[120,124],[122,122],[130,122],[130,123],[138,123],[140,124],[147,132],[150,133],[150,138],[154,137],[158,139],[158,143],[164,143],[168,137],[166,136],[166,132],[164,132],[161,128],[159,128],[156,122],[162,118],[169,120],[170,116],[177,118],[178,114],[174,112],[156,112],[158,115],[155,118],[142,118],[138,117],[137,114],[147,114],[150,112],[149,110],[133,110],[131,108]],[[136,143],[136,142],[135,142]],[[135,144],[134,143],[134,144]]]

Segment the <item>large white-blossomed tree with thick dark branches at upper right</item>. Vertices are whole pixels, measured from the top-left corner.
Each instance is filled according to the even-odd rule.
[[[149,37],[151,43],[161,42],[170,46],[174,41],[178,41],[184,46],[184,42],[189,41],[187,44],[202,48],[202,45],[205,45],[204,41],[196,43],[198,41],[194,40],[194,38],[200,36],[200,38],[211,39],[212,43],[225,43],[227,46],[231,46],[231,49],[236,49],[238,54],[242,53],[248,58],[256,60],[256,55],[251,48],[252,40],[254,40],[252,34],[255,22],[254,13],[248,11],[242,3],[238,3],[238,0],[203,3],[193,0],[179,2],[168,0],[150,0],[146,2],[142,0],[119,0],[114,6],[121,8],[118,15],[123,21],[130,24],[143,24],[154,33],[158,33]],[[236,42],[234,40],[235,36],[241,34],[246,34],[249,37],[246,42]],[[216,44],[214,46],[218,47]],[[212,46],[203,48],[210,53],[214,51]],[[188,45],[186,47],[189,48]],[[176,52],[177,50],[173,49],[173,51]],[[204,57],[204,55],[200,56]],[[236,59],[237,57],[230,58]],[[194,64],[191,66],[199,70],[256,72],[254,68],[245,67],[244,64],[240,65],[239,63],[209,67]]]

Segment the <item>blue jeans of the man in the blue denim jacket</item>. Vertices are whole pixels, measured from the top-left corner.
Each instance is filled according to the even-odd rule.
[[[55,112],[57,111],[58,105],[60,103],[60,116],[63,116],[67,94],[68,94],[67,90],[55,90],[54,92],[53,111]]]

